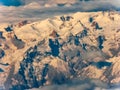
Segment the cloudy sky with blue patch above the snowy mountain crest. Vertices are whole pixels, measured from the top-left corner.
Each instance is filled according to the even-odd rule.
[[[80,11],[119,10],[120,0],[0,0],[0,23],[41,20]]]

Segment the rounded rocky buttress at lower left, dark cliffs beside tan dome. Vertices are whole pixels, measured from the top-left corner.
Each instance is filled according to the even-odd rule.
[[[51,56],[46,51],[47,49],[41,52],[41,47],[38,44],[26,52],[24,59],[20,63],[20,69],[14,78],[19,83],[13,85],[13,89],[19,89],[20,86],[26,89],[38,88],[46,84],[62,84],[69,79],[71,71],[68,64],[59,58]],[[18,77],[21,78],[18,79]]]

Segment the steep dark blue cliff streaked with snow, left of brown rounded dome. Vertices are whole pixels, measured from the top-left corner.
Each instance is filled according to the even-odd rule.
[[[40,43],[43,43],[43,41]],[[40,43],[38,43],[38,46],[42,45]],[[39,63],[40,59],[44,57],[44,54],[41,54],[38,50],[39,48],[37,48],[37,46],[29,48],[25,54],[24,60],[20,63],[20,69],[17,75],[20,75],[24,85],[22,86],[21,84],[19,84],[19,86],[25,89],[32,87],[38,88],[39,86],[43,86],[46,82],[45,76],[47,74],[48,65],[42,64],[44,68],[40,68],[33,65],[34,62]],[[39,60],[36,59],[38,57]],[[41,75],[41,78],[39,78],[39,75]],[[18,81],[21,81],[21,79],[19,79]],[[14,88],[18,88],[19,86],[15,86]]]

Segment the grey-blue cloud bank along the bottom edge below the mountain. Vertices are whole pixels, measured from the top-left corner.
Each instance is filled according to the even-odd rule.
[[[94,81],[94,82],[92,82]],[[79,81],[79,83],[63,84],[63,85],[51,85],[44,86],[42,88],[33,88],[29,90],[120,90],[120,84],[113,85],[109,87],[106,83],[103,83],[99,80],[91,81]]]

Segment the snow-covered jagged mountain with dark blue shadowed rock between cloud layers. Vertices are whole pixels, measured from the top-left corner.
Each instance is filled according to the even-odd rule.
[[[1,61],[12,68],[6,71],[4,85],[10,88],[12,83],[13,89],[38,88],[76,77],[119,83],[119,21],[116,12],[91,12],[13,27],[11,39],[6,41],[14,42],[8,44],[11,50],[4,50]],[[19,48],[23,43],[25,46]]]

